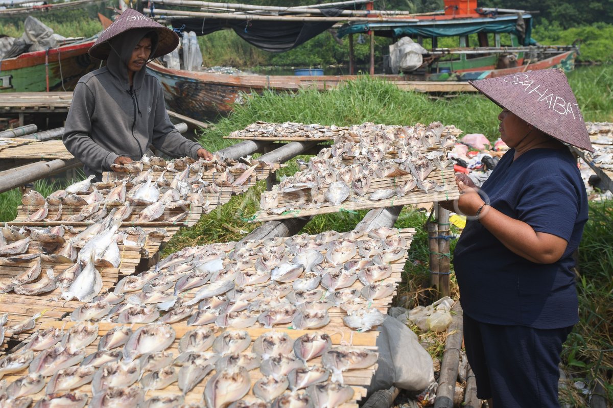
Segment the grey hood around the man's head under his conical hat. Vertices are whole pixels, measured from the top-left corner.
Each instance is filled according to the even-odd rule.
[[[145,37],[148,32],[151,32],[150,28],[137,28],[114,37],[109,41],[111,51],[109,53],[109,59],[107,60],[107,69],[110,74],[115,78],[118,83],[121,84],[121,88],[126,90],[130,89],[130,81],[128,77],[128,63],[132,58],[132,51],[134,47]],[[155,31],[153,31],[155,32]],[[154,55],[156,48],[158,47],[158,35],[153,36],[151,39],[151,55]],[[151,61],[149,59],[147,62]],[[147,64],[145,64],[146,66]],[[134,73],[132,78],[132,85],[134,89],[140,89],[145,79],[145,66],[138,72]]]

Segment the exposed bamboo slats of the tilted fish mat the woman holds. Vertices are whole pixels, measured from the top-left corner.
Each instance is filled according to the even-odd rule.
[[[392,178],[379,178],[373,179],[368,188],[367,195],[375,191],[383,189],[392,189],[406,181],[412,179],[413,176],[397,176]],[[395,205],[408,205],[417,203],[432,203],[439,201],[455,200],[460,197],[457,186],[454,183],[454,170],[453,167],[447,167],[442,172],[440,170],[433,170],[426,180],[436,181],[438,184],[451,184],[451,189],[443,192],[430,191],[425,192],[419,187],[415,187],[412,191],[408,192],[404,197],[394,196],[385,200],[368,200],[366,195],[360,197],[352,189],[350,189],[349,197],[341,203],[341,205],[324,205],[320,208],[313,209],[300,209],[298,206],[306,205],[311,202],[310,189],[302,190],[299,192],[283,193],[280,192],[278,208],[286,208],[281,214],[267,214],[266,211],[258,211],[251,219],[252,222],[265,222],[277,219],[294,218],[294,217],[306,217],[317,214],[338,213],[341,211],[355,211],[372,208],[386,208]],[[278,186],[273,187],[273,191],[277,191]],[[352,201],[355,200],[355,201]],[[287,208],[286,204],[291,204],[293,208]]]

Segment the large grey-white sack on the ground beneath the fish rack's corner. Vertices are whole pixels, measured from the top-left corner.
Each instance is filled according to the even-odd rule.
[[[421,391],[434,381],[432,357],[417,341],[417,334],[394,317],[378,328],[379,358],[368,395],[392,387]]]

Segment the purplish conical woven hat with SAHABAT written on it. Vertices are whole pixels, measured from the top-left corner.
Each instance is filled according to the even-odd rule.
[[[495,104],[560,142],[593,152],[573,90],[562,69],[468,81]]]

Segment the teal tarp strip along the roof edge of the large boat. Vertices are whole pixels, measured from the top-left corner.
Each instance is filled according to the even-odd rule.
[[[519,23],[519,24],[518,24]],[[370,29],[383,37],[422,36],[456,37],[477,32],[510,32],[520,38],[523,45],[531,45],[532,18],[530,15],[516,15],[497,18],[466,18],[455,20],[421,20],[410,23],[367,23],[345,25],[338,29],[339,38],[348,34],[359,34]]]

